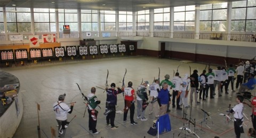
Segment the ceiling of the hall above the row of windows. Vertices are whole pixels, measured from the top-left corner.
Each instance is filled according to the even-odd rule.
[[[239,0],[0,0],[0,6],[32,8],[65,8],[107,11],[141,11],[154,8],[202,5]],[[53,3],[54,2],[54,3]],[[104,5],[105,4],[105,5]]]

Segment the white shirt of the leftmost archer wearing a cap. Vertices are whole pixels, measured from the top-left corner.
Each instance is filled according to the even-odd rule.
[[[58,105],[59,103],[59,105]],[[57,120],[66,120],[67,114],[70,111],[68,105],[62,101],[57,101],[53,103],[53,109],[55,112],[55,117]]]

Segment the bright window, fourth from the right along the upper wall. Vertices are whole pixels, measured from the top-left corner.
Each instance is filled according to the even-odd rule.
[[[170,8],[154,9],[154,30],[170,30]]]

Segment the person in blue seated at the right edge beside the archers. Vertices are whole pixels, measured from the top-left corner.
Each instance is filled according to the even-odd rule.
[[[253,90],[256,85],[256,79],[254,78],[254,74],[249,75],[249,81],[243,84],[240,84],[240,88],[238,93],[245,92],[245,90]]]

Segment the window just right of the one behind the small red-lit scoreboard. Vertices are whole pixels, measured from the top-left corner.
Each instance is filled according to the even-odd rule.
[[[81,10],[82,31],[98,31],[98,11]]]

